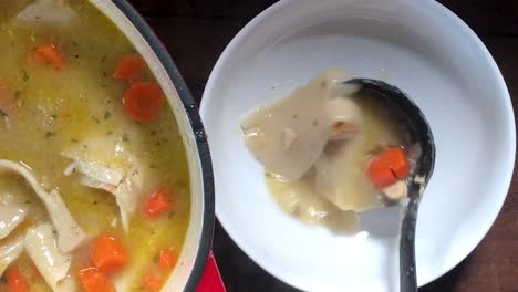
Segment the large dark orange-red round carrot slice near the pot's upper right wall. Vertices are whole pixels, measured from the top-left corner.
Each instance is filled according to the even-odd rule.
[[[123,97],[124,109],[136,122],[156,119],[164,104],[164,93],[155,82],[135,82]]]

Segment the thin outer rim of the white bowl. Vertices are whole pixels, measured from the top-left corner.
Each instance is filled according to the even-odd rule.
[[[410,1],[410,0],[405,0],[405,1]],[[217,87],[216,82],[219,79],[219,75],[220,75],[221,71],[224,70],[225,64],[231,58],[231,54],[238,49],[238,46],[241,43],[246,42],[246,39],[249,35],[249,32],[252,31],[256,27],[258,27],[262,22],[265,22],[265,20],[268,19],[271,14],[278,12],[279,10],[286,9],[288,6],[290,6],[293,2],[297,2],[297,0],[280,0],[280,1],[276,2],[276,3],[273,3],[272,6],[270,6],[269,8],[263,10],[262,12],[260,12],[258,15],[256,15],[244,28],[241,28],[241,30],[234,36],[234,39],[230,41],[230,43],[225,48],[224,52],[220,54],[218,61],[216,62],[211,73],[210,73],[210,76],[209,76],[209,79],[208,79],[208,81],[206,83],[206,87],[205,87],[203,98],[201,98],[201,104],[200,104],[200,114],[201,114],[201,116],[205,117],[206,116],[205,113],[210,111],[210,108],[207,108],[207,101],[209,100],[209,97],[206,97],[206,96],[210,96],[211,92],[214,92],[214,90]],[[515,160],[516,160],[516,124],[515,124],[515,114],[514,114],[514,109],[512,109],[512,103],[511,103],[509,90],[507,87],[507,84],[506,84],[506,82],[504,80],[504,76],[501,75],[501,72],[500,72],[495,59],[493,58],[493,55],[490,54],[490,52],[488,51],[488,49],[486,48],[484,42],[478,38],[478,35],[458,15],[456,15],[454,12],[452,12],[448,8],[446,8],[442,3],[437,2],[437,1],[434,1],[434,0],[421,0],[421,4],[423,6],[424,10],[427,7],[431,10],[435,10],[436,13],[442,15],[443,18],[450,19],[453,22],[455,22],[455,24],[457,24],[458,30],[462,30],[465,33],[467,33],[468,38],[470,38],[473,41],[476,42],[477,48],[480,50],[481,54],[487,60],[487,62],[489,64],[489,70],[491,71],[491,74],[495,75],[495,77],[498,81],[498,88],[499,88],[498,94],[501,95],[505,98],[505,101],[504,101],[504,103],[506,105],[505,114],[509,118],[509,129],[510,129],[510,132],[508,133],[510,135],[509,136],[510,145],[509,145],[509,153],[507,154],[507,156],[512,160],[512,161],[510,161],[511,167],[509,167],[505,171],[506,176],[505,176],[504,180],[505,180],[505,187],[507,189],[507,192],[504,195],[504,197],[501,199],[501,202],[500,202],[500,206],[495,209],[495,212],[496,212],[495,216],[491,215],[493,218],[490,220],[488,220],[489,225],[485,228],[483,237],[480,237],[478,240],[473,240],[470,242],[470,244],[467,244],[468,247],[466,249],[464,249],[464,253],[459,254],[454,260],[452,260],[450,264],[445,265],[444,269],[437,270],[437,273],[435,275],[433,275],[433,277],[431,277],[428,279],[425,279],[425,281],[422,281],[419,283],[419,286],[423,286],[423,285],[428,284],[429,282],[435,281],[438,278],[443,277],[448,271],[450,271],[456,265],[458,265],[463,260],[465,260],[466,257],[469,253],[472,253],[475,250],[475,248],[481,242],[481,240],[489,232],[490,228],[494,226],[494,223],[495,223],[495,221],[496,221],[496,219],[497,219],[497,217],[498,217],[498,215],[499,215],[499,212],[500,212],[500,210],[501,210],[501,208],[504,206],[505,199],[506,199],[506,197],[507,197],[507,195],[509,192],[509,187],[510,187],[510,184],[511,184],[511,180],[512,180],[512,174],[514,174],[514,167],[512,166],[515,165]],[[217,209],[216,209],[216,216],[219,218]],[[226,230],[226,232],[229,234],[229,237],[236,242],[236,244],[241,250],[245,251],[245,253],[247,253],[248,257],[250,257],[250,259],[252,259],[265,271],[268,271],[268,272],[270,271],[268,269],[268,265],[262,260],[258,261],[258,259],[255,257],[255,254],[250,254],[250,253],[248,253],[248,251],[246,251],[246,249],[244,249],[244,247],[247,247],[247,244],[244,243],[244,240],[240,239],[239,234],[234,232],[234,230],[230,230],[229,228],[227,228],[226,225],[225,225],[225,221],[220,221],[220,223],[221,223],[222,228]],[[280,278],[278,278],[278,275],[274,275],[274,277],[277,279],[279,279],[280,281],[282,281],[282,282],[286,282],[286,283],[288,283],[290,285],[302,289],[301,286],[297,285],[296,283],[289,282],[287,279],[280,279]]]

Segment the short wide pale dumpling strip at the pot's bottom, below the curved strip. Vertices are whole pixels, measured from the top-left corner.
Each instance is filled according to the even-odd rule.
[[[69,273],[72,258],[56,247],[54,230],[50,222],[40,223],[27,231],[25,250],[49,286],[53,291],[59,291],[62,280]],[[66,281],[63,284],[68,284]]]

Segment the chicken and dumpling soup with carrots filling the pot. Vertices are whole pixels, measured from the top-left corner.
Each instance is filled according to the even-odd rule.
[[[146,62],[83,0],[2,0],[0,40],[0,291],[159,291],[189,174]]]

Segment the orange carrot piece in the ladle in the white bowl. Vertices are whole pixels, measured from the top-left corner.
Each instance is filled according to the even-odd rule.
[[[375,156],[367,168],[369,177],[379,188],[388,187],[408,175],[408,159],[402,148],[393,147]]]

